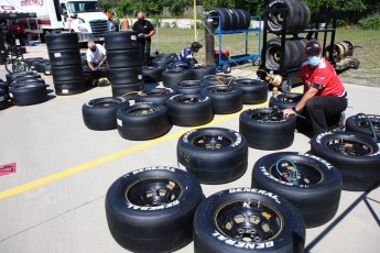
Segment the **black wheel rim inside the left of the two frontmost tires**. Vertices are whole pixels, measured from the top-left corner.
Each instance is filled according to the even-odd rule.
[[[126,189],[126,198],[141,207],[158,207],[181,197],[182,186],[170,178],[149,178],[135,182]]]

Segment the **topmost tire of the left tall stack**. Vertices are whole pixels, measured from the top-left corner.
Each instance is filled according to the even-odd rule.
[[[45,35],[48,51],[77,50],[79,51],[77,33],[50,33]]]

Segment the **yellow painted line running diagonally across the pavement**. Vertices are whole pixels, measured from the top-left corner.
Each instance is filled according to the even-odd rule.
[[[269,101],[267,101],[264,103],[261,103],[261,105],[249,106],[249,107],[243,108],[241,111],[245,111],[245,110],[248,110],[248,109],[253,109],[253,108],[260,108],[260,107],[263,107],[263,106],[265,106],[268,103],[269,103]],[[39,179],[35,179],[35,180],[25,183],[23,185],[20,185],[20,186],[17,186],[17,187],[13,187],[13,188],[0,191],[0,199],[8,198],[8,197],[11,197],[11,196],[24,193],[26,190],[30,190],[30,189],[43,186],[45,184],[48,184],[48,183],[52,183],[52,182],[55,182],[55,180],[68,177],[70,175],[84,172],[86,169],[93,168],[95,166],[98,166],[100,164],[110,162],[110,161],[119,158],[121,156],[129,155],[129,154],[138,152],[140,150],[153,146],[155,144],[166,142],[166,141],[173,140],[175,138],[180,138],[182,134],[184,134],[184,133],[186,133],[186,132],[188,132],[191,130],[199,129],[199,128],[206,128],[206,127],[209,127],[209,125],[213,125],[213,124],[226,121],[226,120],[228,120],[230,118],[239,116],[241,113],[241,111],[238,111],[238,112],[231,113],[231,114],[219,116],[219,117],[217,117],[216,119],[214,119],[211,122],[209,122],[207,124],[199,125],[199,127],[193,127],[193,128],[186,128],[186,129],[181,130],[178,132],[166,134],[166,135],[164,135],[162,138],[154,139],[154,140],[148,141],[148,142],[142,142],[141,144],[138,144],[135,146],[129,147],[127,150],[119,151],[119,152],[116,152],[113,154],[106,155],[104,157],[94,160],[91,162],[88,162],[88,163],[85,163],[85,164],[80,164],[78,166],[64,169],[62,172],[52,174],[50,176],[42,177],[42,178],[39,178]]]

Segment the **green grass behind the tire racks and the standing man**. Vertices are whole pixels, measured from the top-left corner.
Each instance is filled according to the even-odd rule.
[[[262,40],[262,34],[260,35]],[[319,35],[321,36],[321,35]],[[273,37],[270,34],[268,40]],[[259,34],[249,33],[248,53],[260,54]],[[171,29],[160,28],[156,35],[152,40],[152,52],[159,50],[160,53],[180,53],[184,47],[189,46],[194,42],[194,30],[189,29]],[[197,41],[204,43],[205,30],[197,30]],[[218,45],[219,37],[215,42]],[[341,41],[350,41],[355,46],[354,57],[360,61],[359,69],[348,68],[340,73],[339,76],[345,84],[357,84],[365,86],[380,87],[380,43],[379,32],[370,30],[360,30],[358,28],[339,28],[336,31],[335,43]],[[262,44],[261,44],[262,45]],[[243,34],[225,34],[221,37],[222,50],[228,50],[230,55],[243,54],[246,51],[246,42]],[[205,48],[205,46],[204,46]],[[195,55],[195,57],[205,62],[204,48]],[[261,50],[261,46],[260,46]],[[254,67],[252,67],[252,70]]]

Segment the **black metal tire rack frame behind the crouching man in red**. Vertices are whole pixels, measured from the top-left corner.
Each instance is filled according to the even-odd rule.
[[[285,43],[286,43],[286,35],[292,35],[293,37],[298,37],[298,33],[306,33],[307,35],[305,36],[307,40],[311,38],[316,38],[319,41],[318,35],[319,33],[323,33],[323,40],[319,41],[319,43],[322,43],[322,55],[326,56],[326,45],[327,43],[329,43],[329,58],[328,61],[332,63],[332,65],[335,67],[336,63],[334,61],[333,57],[333,47],[334,47],[334,43],[335,43],[335,33],[336,33],[336,13],[328,13],[329,18],[333,19],[333,23],[332,23],[332,28],[328,28],[329,22],[328,20],[326,20],[325,28],[321,29],[321,22],[315,23],[315,28],[314,29],[306,29],[304,31],[298,31],[297,33],[286,33],[286,18],[287,18],[287,13],[289,13],[289,9],[287,8],[282,8],[282,9],[275,9],[276,12],[280,12],[283,15],[283,26],[282,26],[282,32],[280,34],[278,34],[281,38],[281,48],[280,48],[280,67],[279,69],[268,69],[265,66],[267,63],[267,42],[268,42],[268,33],[271,33],[268,31],[268,16],[269,13],[271,12],[271,9],[265,9],[264,10],[264,15],[263,15],[263,42],[262,42],[262,54],[261,54],[261,65],[259,66],[259,70],[257,73],[257,75],[264,80],[265,78],[265,73],[272,73],[272,74],[276,74],[276,75],[281,75],[283,77],[283,81],[281,84],[281,89],[282,91],[290,91],[290,89],[292,88],[293,84],[301,84],[301,76],[300,76],[300,72],[301,72],[301,66],[297,68],[291,68],[291,69],[286,69],[285,65],[284,65],[284,57],[281,57],[283,55],[285,55]],[[317,18],[317,20],[319,20]],[[329,42],[327,41],[328,36],[327,34],[330,33],[330,40]],[[313,36],[314,35],[314,36]],[[261,72],[264,70],[265,73]]]

